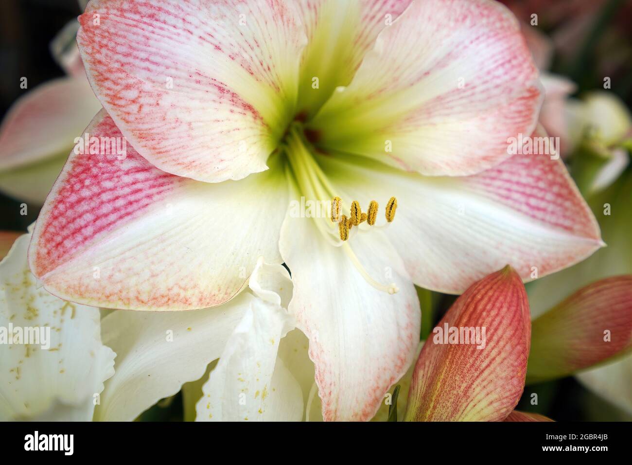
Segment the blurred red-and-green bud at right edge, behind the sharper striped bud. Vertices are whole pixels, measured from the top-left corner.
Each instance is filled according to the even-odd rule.
[[[533,320],[529,382],[567,376],[632,349],[632,275],[581,288]]]

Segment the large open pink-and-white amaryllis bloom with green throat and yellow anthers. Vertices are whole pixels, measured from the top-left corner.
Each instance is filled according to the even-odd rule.
[[[540,90],[500,4],[104,0],[80,23],[104,106],[85,132],[129,144],[71,153],[33,273],[70,301],[163,311],[284,262],[327,420],[371,418],[406,371],[413,283],[458,293],[507,262],[528,280],[602,245],[561,161],[507,150]]]

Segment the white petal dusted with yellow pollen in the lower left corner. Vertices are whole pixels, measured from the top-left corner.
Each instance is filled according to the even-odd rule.
[[[28,270],[29,240],[30,234],[19,237],[0,262],[0,332],[48,328],[50,340],[0,344],[0,421],[88,421],[114,373],[114,352],[101,343],[98,309],[37,286]]]

